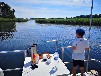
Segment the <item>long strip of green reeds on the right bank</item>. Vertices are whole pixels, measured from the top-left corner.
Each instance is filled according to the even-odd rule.
[[[89,25],[89,18],[68,18],[68,19],[35,19],[40,24],[66,24],[66,25]],[[101,18],[93,18],[92,25],[101,26]]]

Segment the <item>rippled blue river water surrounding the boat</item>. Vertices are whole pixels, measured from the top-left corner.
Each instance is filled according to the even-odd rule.
[[[0,22],[0,51],[25,50],[33,43],[38,44],[39,53],[55,51],[55,42],[47,43],[47,40],[57,39],[59,41],[59,54],[61,57],[61,47],[72,45],[77,28],[86,30],[85,38],[88,38],[89,26],[37,24],[34,20],[23,23]],[[91,52],[90,57],[101,61],[101,27],[91,28]],[[65,61],[72,61],[72,50],[65,49]],[[71,70],[72,64],[66,65]],[[86,66],[86,64],[85,64]],[[101,63],[90,62],[89,69],[96,69],[99,72]]]

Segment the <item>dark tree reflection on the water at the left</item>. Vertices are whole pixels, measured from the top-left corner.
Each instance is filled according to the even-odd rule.
[[[15,22],[0,22],[0,41],[13,38],[13,32],[15,31]]]

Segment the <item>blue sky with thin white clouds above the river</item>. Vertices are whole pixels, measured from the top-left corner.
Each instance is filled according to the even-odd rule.
[[[101,14],[101,0],[93,0],[93,14]],[[70,18],[89,15],[92,0],[0,0],[15,9],[17,18]]]

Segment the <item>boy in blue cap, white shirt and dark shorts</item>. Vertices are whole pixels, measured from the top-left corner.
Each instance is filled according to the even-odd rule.
[[[85,50],[89,50],[89,45],[87,39],[83,38],[85,34],[84,29],[76,30],[76,39],[73,42],[72,49],[72,59],[73,59],[73,76],[76,76],[77,65],[80,67],[81,76],[84,76],[84,59]]]

